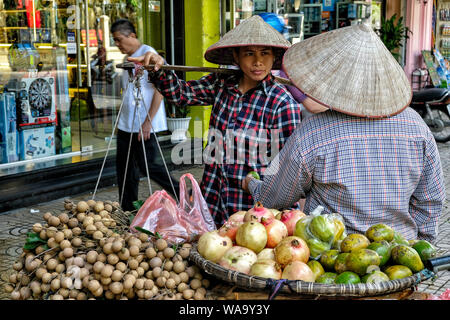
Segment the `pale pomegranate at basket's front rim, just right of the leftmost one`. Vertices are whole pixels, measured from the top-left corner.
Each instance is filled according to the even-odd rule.
[[[248,274],[251,266],[256,262],[256,259],[256,253],[252,250],[245,247],[234,246],[225,252],[218,264],[224,268]]]

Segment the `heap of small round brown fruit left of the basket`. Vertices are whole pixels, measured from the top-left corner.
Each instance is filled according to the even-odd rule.
[[[130,233],[117,202],[64,207],[27,234],[5,286],[12,299],[205,299],[210,282],[188,261],[191,244]]]

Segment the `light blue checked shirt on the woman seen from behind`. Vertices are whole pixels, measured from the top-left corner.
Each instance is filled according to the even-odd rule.
[[[436,142],[411,108],[379,120],[314,115],[288,139],[264,181],[252,180],[249,189],[269,208],[306,196],[305,212],[318,205],[337,212],[348,233],[385,223],[407,239],[430,241],[445,198]]]

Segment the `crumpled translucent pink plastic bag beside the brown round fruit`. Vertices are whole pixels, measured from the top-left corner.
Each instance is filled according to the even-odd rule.
[[[192,183],[191,196],[185,178]],[[136,232],[137,226],[158,233],[172,244],[192,242],[203,233],[216,230],[200,187],[190,173],[180,178],[180,205],[165,190],[158,190],[144,202],[130,229]]]

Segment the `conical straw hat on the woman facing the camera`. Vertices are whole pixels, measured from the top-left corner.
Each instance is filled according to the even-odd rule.
[[[270,46],[276,56],[273,69],[280,69],[284,52],[291,46],[281,33],[265,22],[260,16],[247,18],[234,29],[228,31],[219,41],[205,52],[205,59],[212,63],[232,65],[233,53],[230,48],[244,46]]]

